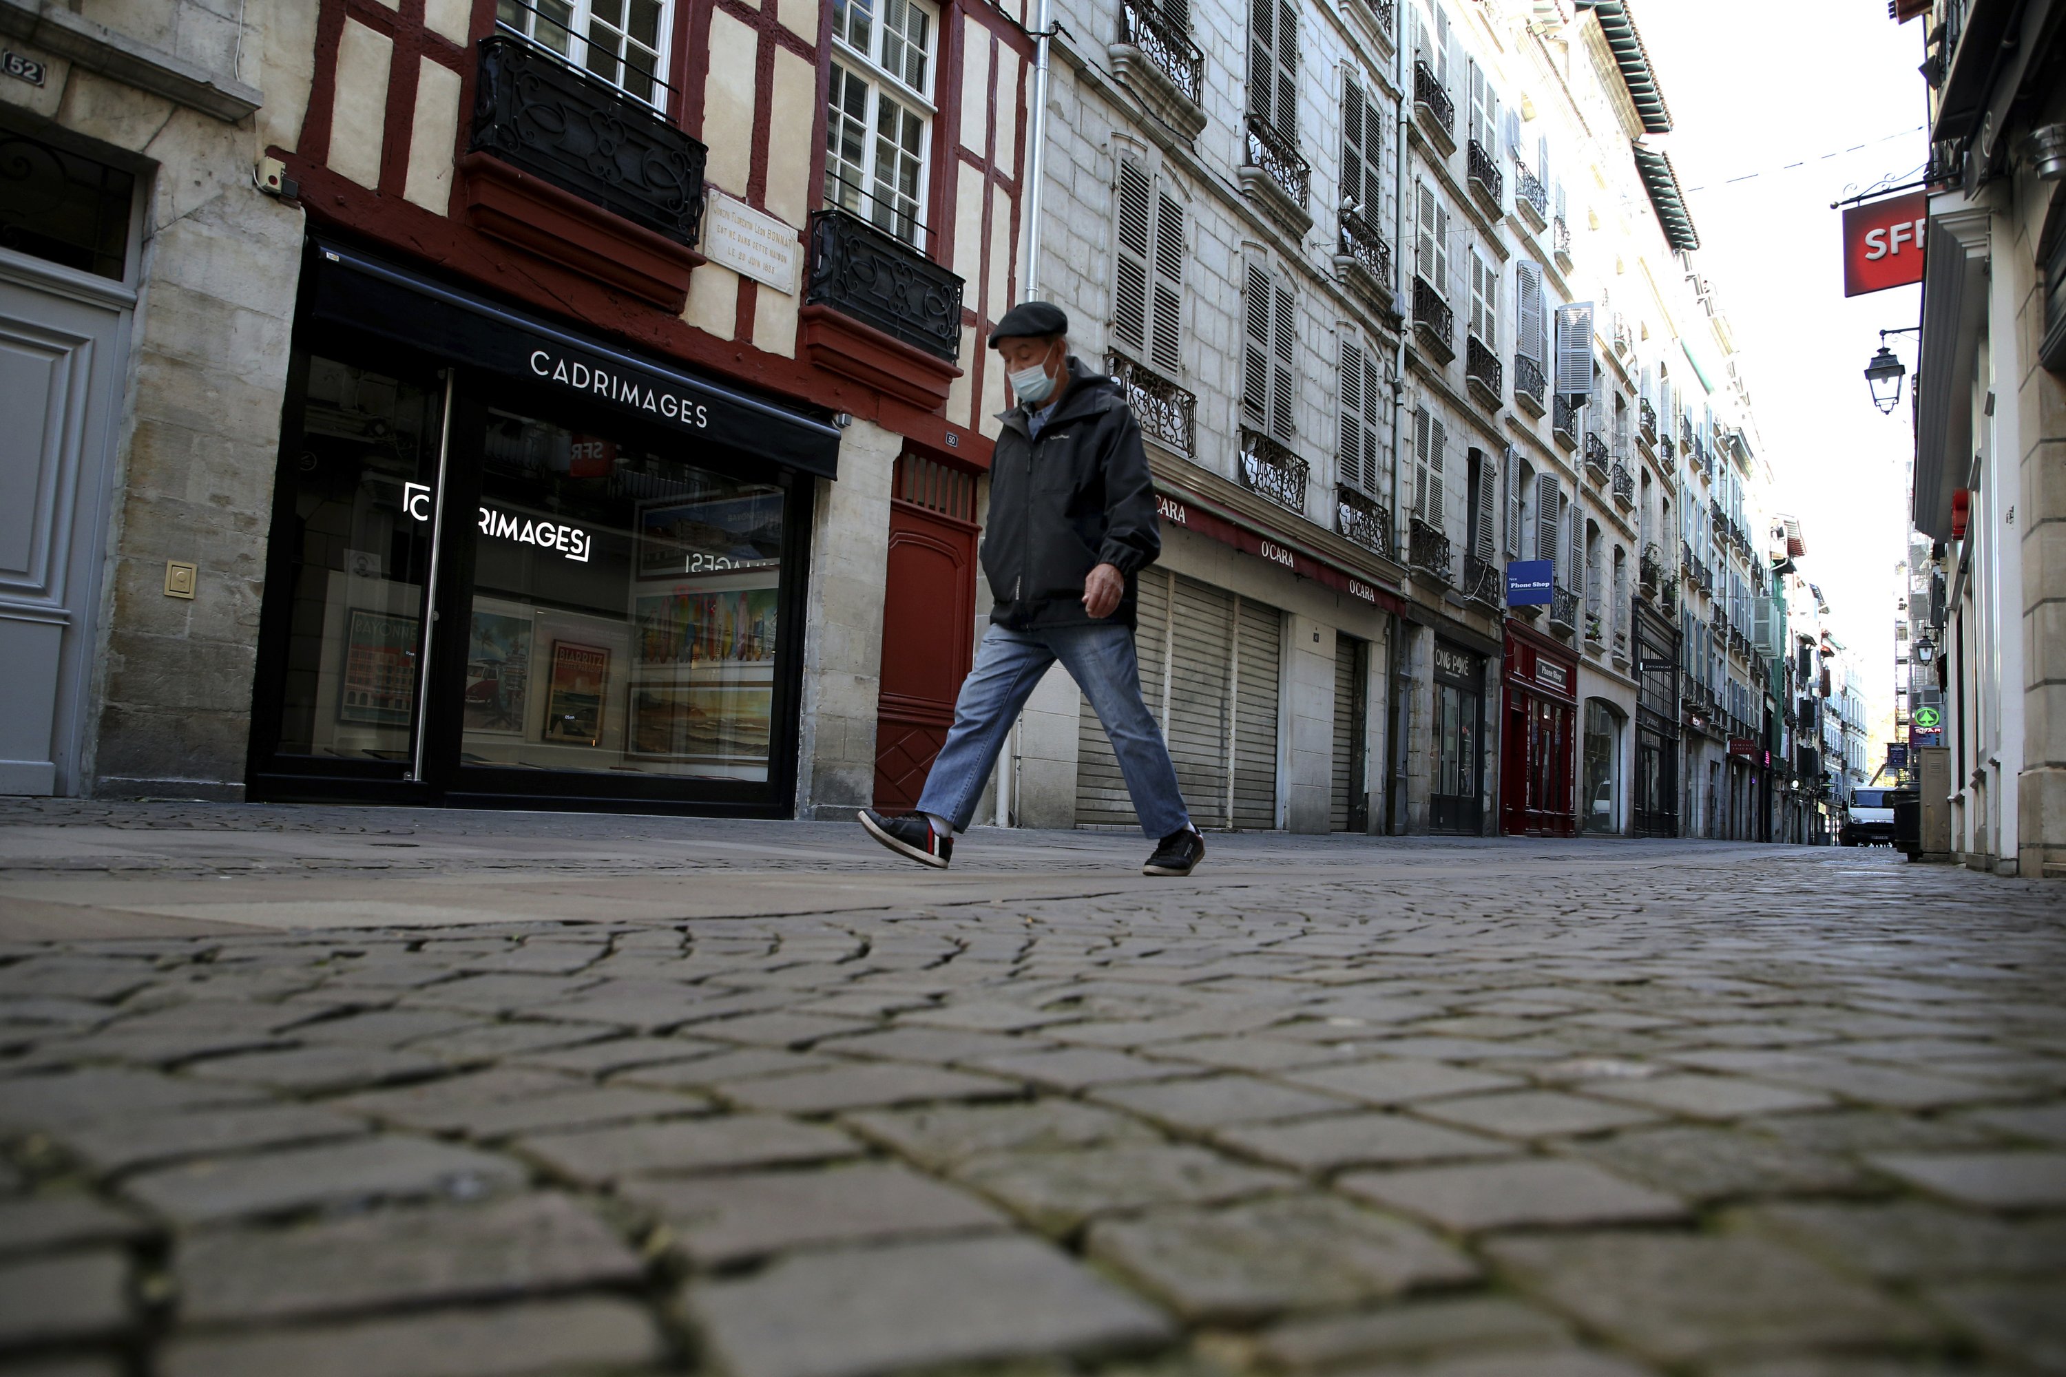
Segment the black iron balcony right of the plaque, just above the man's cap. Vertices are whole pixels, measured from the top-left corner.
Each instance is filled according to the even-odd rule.
[[[930,355],[961,357],[961,279],[857,215],[812,211],[804,301]]]

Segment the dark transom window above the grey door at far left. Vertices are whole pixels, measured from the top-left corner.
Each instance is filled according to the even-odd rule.
[[[0,130],[0,248],[122,281],[136,178]]]

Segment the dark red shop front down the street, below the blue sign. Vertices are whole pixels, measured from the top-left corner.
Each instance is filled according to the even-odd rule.
[[[1570,836],[1578,772],[1578,657],[1506,623],[1500,832]]]

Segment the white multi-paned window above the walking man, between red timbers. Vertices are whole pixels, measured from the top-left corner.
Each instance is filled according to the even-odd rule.
[[[932,43],[915,0],[835,0],[824,120],[824,200],[926,248]]]

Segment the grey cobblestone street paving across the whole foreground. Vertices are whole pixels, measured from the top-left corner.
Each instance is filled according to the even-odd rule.
[[[4,805],[0,1373],[2066,1371],[2056,884],[1211,848]]]

